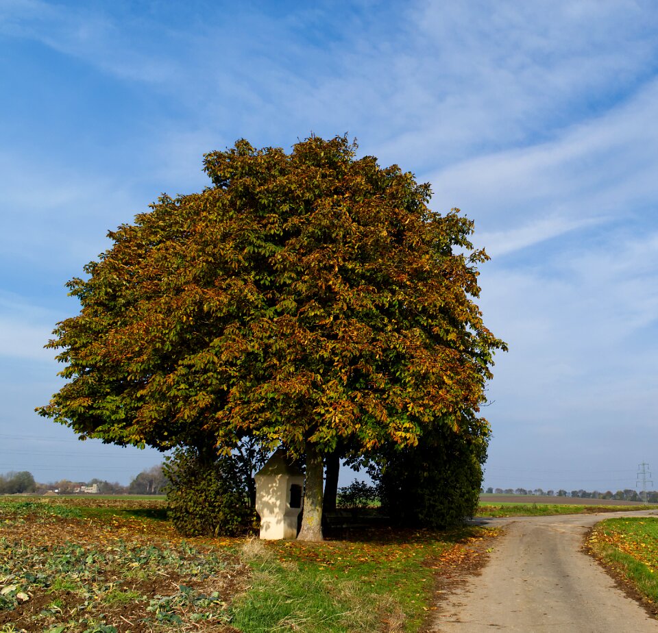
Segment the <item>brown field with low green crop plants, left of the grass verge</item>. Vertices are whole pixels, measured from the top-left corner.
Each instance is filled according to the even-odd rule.
[[[249,571],[230,540],[196,544],[164,521],[63,508],[0,504],[1,631],[233,630],[228,606]]]

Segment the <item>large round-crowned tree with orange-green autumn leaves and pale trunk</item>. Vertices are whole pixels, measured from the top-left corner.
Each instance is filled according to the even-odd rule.
[[[504,347],[474,302],[487,256],[345,137],[204,165],[212,186],[162,196],[69,282],[82,308],[49,343],[69,382],[39,412],[123,445],[283,445],[306,462],[300,538],[321,538],[324,456],[469,432]]]

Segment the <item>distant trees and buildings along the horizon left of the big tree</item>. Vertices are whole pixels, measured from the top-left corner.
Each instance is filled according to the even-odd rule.
[[[73,495],[80,493],[81,488],[93,488],[96,486],[99,495],[162,495],[166,483],[162,464],[146,469],[133,477],[130,484],[123,486],[119,482],[107,482],[94,479],[88,482],[72,482],[61,479],[45,484],[36,482],[29,471],[11,471],[0,475],[0,495],[20,495],[25,493],[45,494],[48,491],[60,495]]]

